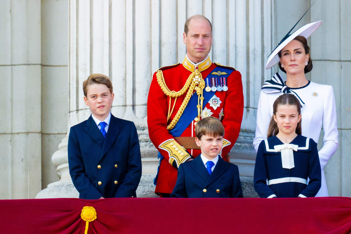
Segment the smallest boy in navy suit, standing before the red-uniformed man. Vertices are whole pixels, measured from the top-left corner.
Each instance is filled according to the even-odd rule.
[[[239,169],[218,154],[223,147],[224,127],[212,116],[196,127],[196,144],[201,154],[178,168],[173,198],[242,198]]]

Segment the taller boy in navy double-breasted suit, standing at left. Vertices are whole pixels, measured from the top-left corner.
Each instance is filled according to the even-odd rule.
[[[107,76],[91,74],[83,92],[92,114],[71,127],[68,138],[69,174],[79,198],[135,197],[141,178],[137,129],[110,113],[114,93]]]

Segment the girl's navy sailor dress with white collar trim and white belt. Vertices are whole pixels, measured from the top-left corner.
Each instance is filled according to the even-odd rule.
[[[316,142],[297,135],[290,144],[298,146],[298,150],[293,151],[291,169],[283,168],[281,152],[274,151],[274,146],[283,145],[277,136],[261,141],[258,146],[253,187],[261,198],[313,197],[318,193],[321,169]],[[308,184],[307,177],[310,178]]]

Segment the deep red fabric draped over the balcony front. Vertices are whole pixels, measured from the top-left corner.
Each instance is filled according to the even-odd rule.
[[[83,234],[84,206],[97,212],[88,233],[351,232],[351,198],[342,197],[0,200],[0,232]]]

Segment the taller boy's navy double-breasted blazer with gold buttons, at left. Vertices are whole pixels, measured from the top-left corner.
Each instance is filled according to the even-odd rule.
[[[134,123],[111,114],[106,138],[92,116],[71,127],[68,166],[79,198],[135,197],[141,156]]]

